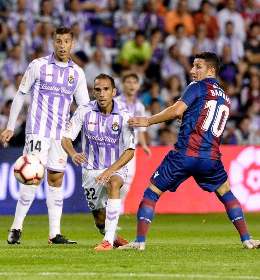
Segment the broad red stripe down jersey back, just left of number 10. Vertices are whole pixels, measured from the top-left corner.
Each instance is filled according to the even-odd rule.
[[[208,100],[212,99],[217,99],[217,96],[212,96],[210,89],[213,89],[212,85],[209,82],[206,82],[207,86],[207,98],[205,99],[205,103],[202,107],[202,111],[200,113],[200,116],[198,118],[197,124],[194,127],[193,132],[190,135],[189,142],[188,142],[188,147],[186,150],[185,155],[186,156],[193,156],[193,157],[198,157],[199,155],[199,149],[200,149],[200,144],[203,138],[203,135],[205,133],[205,130],[202,129],[202,125],[204,123],[204,120],[207,117],[208,109],[205,110],[205,106]],[[219,155],[217,154],[213,159],[218,160]]]

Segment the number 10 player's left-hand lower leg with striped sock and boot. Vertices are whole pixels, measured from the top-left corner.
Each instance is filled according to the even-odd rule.
[[[162,194],[163,192],[150,182],[137,211],[136,239],[118,247],[117,250],[145,250],[146,235],[154,217],[155,204]]]

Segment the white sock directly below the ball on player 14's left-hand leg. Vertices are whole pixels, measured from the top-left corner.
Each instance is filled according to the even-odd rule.
[[[38,186],[35,185],[21,186],[19,198],[16,204],[14,222],[11,229],[20,228],[20,230],[22,230],[24,218],[33,202],[37,188]]]

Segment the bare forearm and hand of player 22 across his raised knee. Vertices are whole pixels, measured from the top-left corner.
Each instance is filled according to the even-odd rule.
[[[128,161],[130,161],[132,159],[132,157],[134,156],[134,149],[128,149],[125,150],[122,154],[122,156],[119,156],[118,160],[113,163],[107,170],[105,170],[103,173],[101,173],[97,179],[95,180],[96,184],[98,184],[100,186],[100,184],[103,181],[103,185],[109,181],[110,177],[117,171],[119,170],[121,167],[123,167],[124,165],[126,165],[128,163]]]

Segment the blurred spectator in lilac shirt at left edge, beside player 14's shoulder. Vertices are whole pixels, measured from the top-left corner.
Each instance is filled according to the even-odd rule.
[[[24,73],[28,67],[28,63],[22,56],[22,48],[19,44],[14,46],[12,57],[7,58],[4,64],[1,76],[5,87],[14,82],[14,76],[17,73]]]

